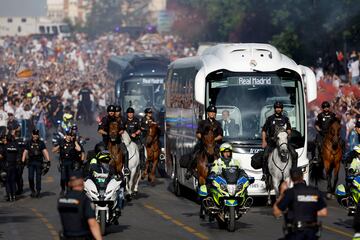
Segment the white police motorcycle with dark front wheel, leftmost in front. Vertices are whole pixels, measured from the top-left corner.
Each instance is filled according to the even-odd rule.
[[[108,167],[108,166],[107,166]],[[100,224],[101,234],[105,235],[106,226],[118,224],[120,213],[116,211],[118,200],[124,204],[123,179],[108,170],[93,171],[84,183],[86,195],[95,204],[96,220]]]

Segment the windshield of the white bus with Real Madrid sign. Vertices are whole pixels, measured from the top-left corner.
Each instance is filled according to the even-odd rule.
[[[275,101],[284,104],[293,132],[305,135],[304,92],[295,72],[218,71],[208,75],[206,90],[207,102],[218,108],[216,118],[222,124],[225,140],[260,141],[262,126],[274,113]]]

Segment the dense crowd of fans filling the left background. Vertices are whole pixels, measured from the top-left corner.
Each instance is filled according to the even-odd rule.
[[[45,140],[46,129],[56,125],[65,112],[79,119],[84,115],[82,106],[90,106],[92,113],[103,111],[114,101],[114,82],[106,71],[108,59],[133,52],[162,54],[171,60],[196,53],[173,35],[145,34],[132,39],[127,34],[106,33],[89,40],[77,33],[72,39],[0,38],[0,127],[6,128],[8,115],[13,115],[22,138],[29,138],[36,127]],[[90,94],[83,93],[84,89],[90,89]]]

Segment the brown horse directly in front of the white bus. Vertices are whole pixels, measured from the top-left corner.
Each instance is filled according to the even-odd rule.
[[[215,134],[211,128],[206,128],[205,133],[201,135],[203,147],[195,153],[196,172],[198,176],[199,186],[206,183],[209,167],[208,164],[217,159],[218,153],[215,152]]]

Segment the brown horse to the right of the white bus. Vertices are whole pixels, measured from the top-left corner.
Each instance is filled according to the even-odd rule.
[[[341,125],[339,120],[330,124],[329,131],[324,137],[321,156],[327,179],[327,198],[332,198],[338,181],[340,163],[342,158],[342,140],[340,137]],[[334,173],[334,185],[332,185],[332,174]]]

